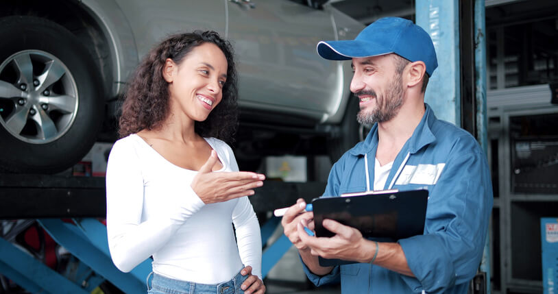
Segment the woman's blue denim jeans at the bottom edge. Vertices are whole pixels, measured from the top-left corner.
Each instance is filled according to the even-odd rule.
[[[242,282],[248,278],[247,275],[236,273],[234,278],[221,284],[197,284],[165,278],[156,273],[153,274],[151,287],[147,283],[148,294],[243,294],[240,288]],[[148,278],[149,280],[149,278]]]

